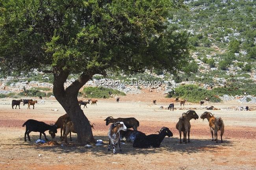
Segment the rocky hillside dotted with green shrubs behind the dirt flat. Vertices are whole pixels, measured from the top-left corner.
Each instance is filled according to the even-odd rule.
[[[85,87],[104,86],[126,94],[139,94],[141,89],[168,94],[185,84],[215,89],[222,100],[238,99],[256,103],[256,3],[254,0],[189,0],[187,9],[171,12],[169,22],[186,30],[191,44],[190,61],[182,71],[171,75],[162,70],[125,75],[108,72],[105,79],[95,75]],[[30,74],[0,79],[1,94],[16,94],[35,87],[52,89],[53,76],[33,71]],[[70,75],[65,86],[77,75]],[[160,81],[161,85],[123,85],[99,81]],[[40,91],[40,90],[39,90]],[[47,90],[46,90],[47,91]],[[81,90],[82,91],[82,90]],[[50,92],[50,91],[47,91]],[[202,96],[202,99],[203,96]]]

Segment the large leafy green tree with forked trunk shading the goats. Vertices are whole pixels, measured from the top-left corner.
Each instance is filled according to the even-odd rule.
[[[106,69],[126,73],[180,69],[187,34],[167,17],[180,0],[0,0],[0,72],[38,69],[54,75],[53,93],[78,141],[95,142],[78,91]],[[69,87],[69,74],[79,78]]]

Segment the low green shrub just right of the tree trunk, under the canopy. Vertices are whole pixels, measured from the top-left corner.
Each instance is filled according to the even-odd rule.
[[[87,98],[110,98],[111,94],[118,96],[126,95],[124,92],[119,90],[113,90],[105,87],[85,87],[83,92],[85,92]]]

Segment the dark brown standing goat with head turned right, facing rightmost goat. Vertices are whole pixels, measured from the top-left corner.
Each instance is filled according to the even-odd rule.
[[[186,113],[182,113],[182,117],[179,118],[178,123],[176,124],[176,129],[180,133],[180,143],[181,141],[181,132],[183,132],[183,142],[187,143],[187,137],[188,137],[188,142],[189,140],[189,135],[190,135],[190,120],[191,119],[198,119],[198,115],[194,110],[188,110]]]

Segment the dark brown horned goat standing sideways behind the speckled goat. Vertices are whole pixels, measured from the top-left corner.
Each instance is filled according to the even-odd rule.
[[[137,127],[139,127],[139,121],[137,121],[135,118],[114,119],[112,116],[109,116],[104,121],[106,121],[106,126],[108,126],[109,123],[123,122],[127,128],[133,128],[134,130],[137,130]]]

